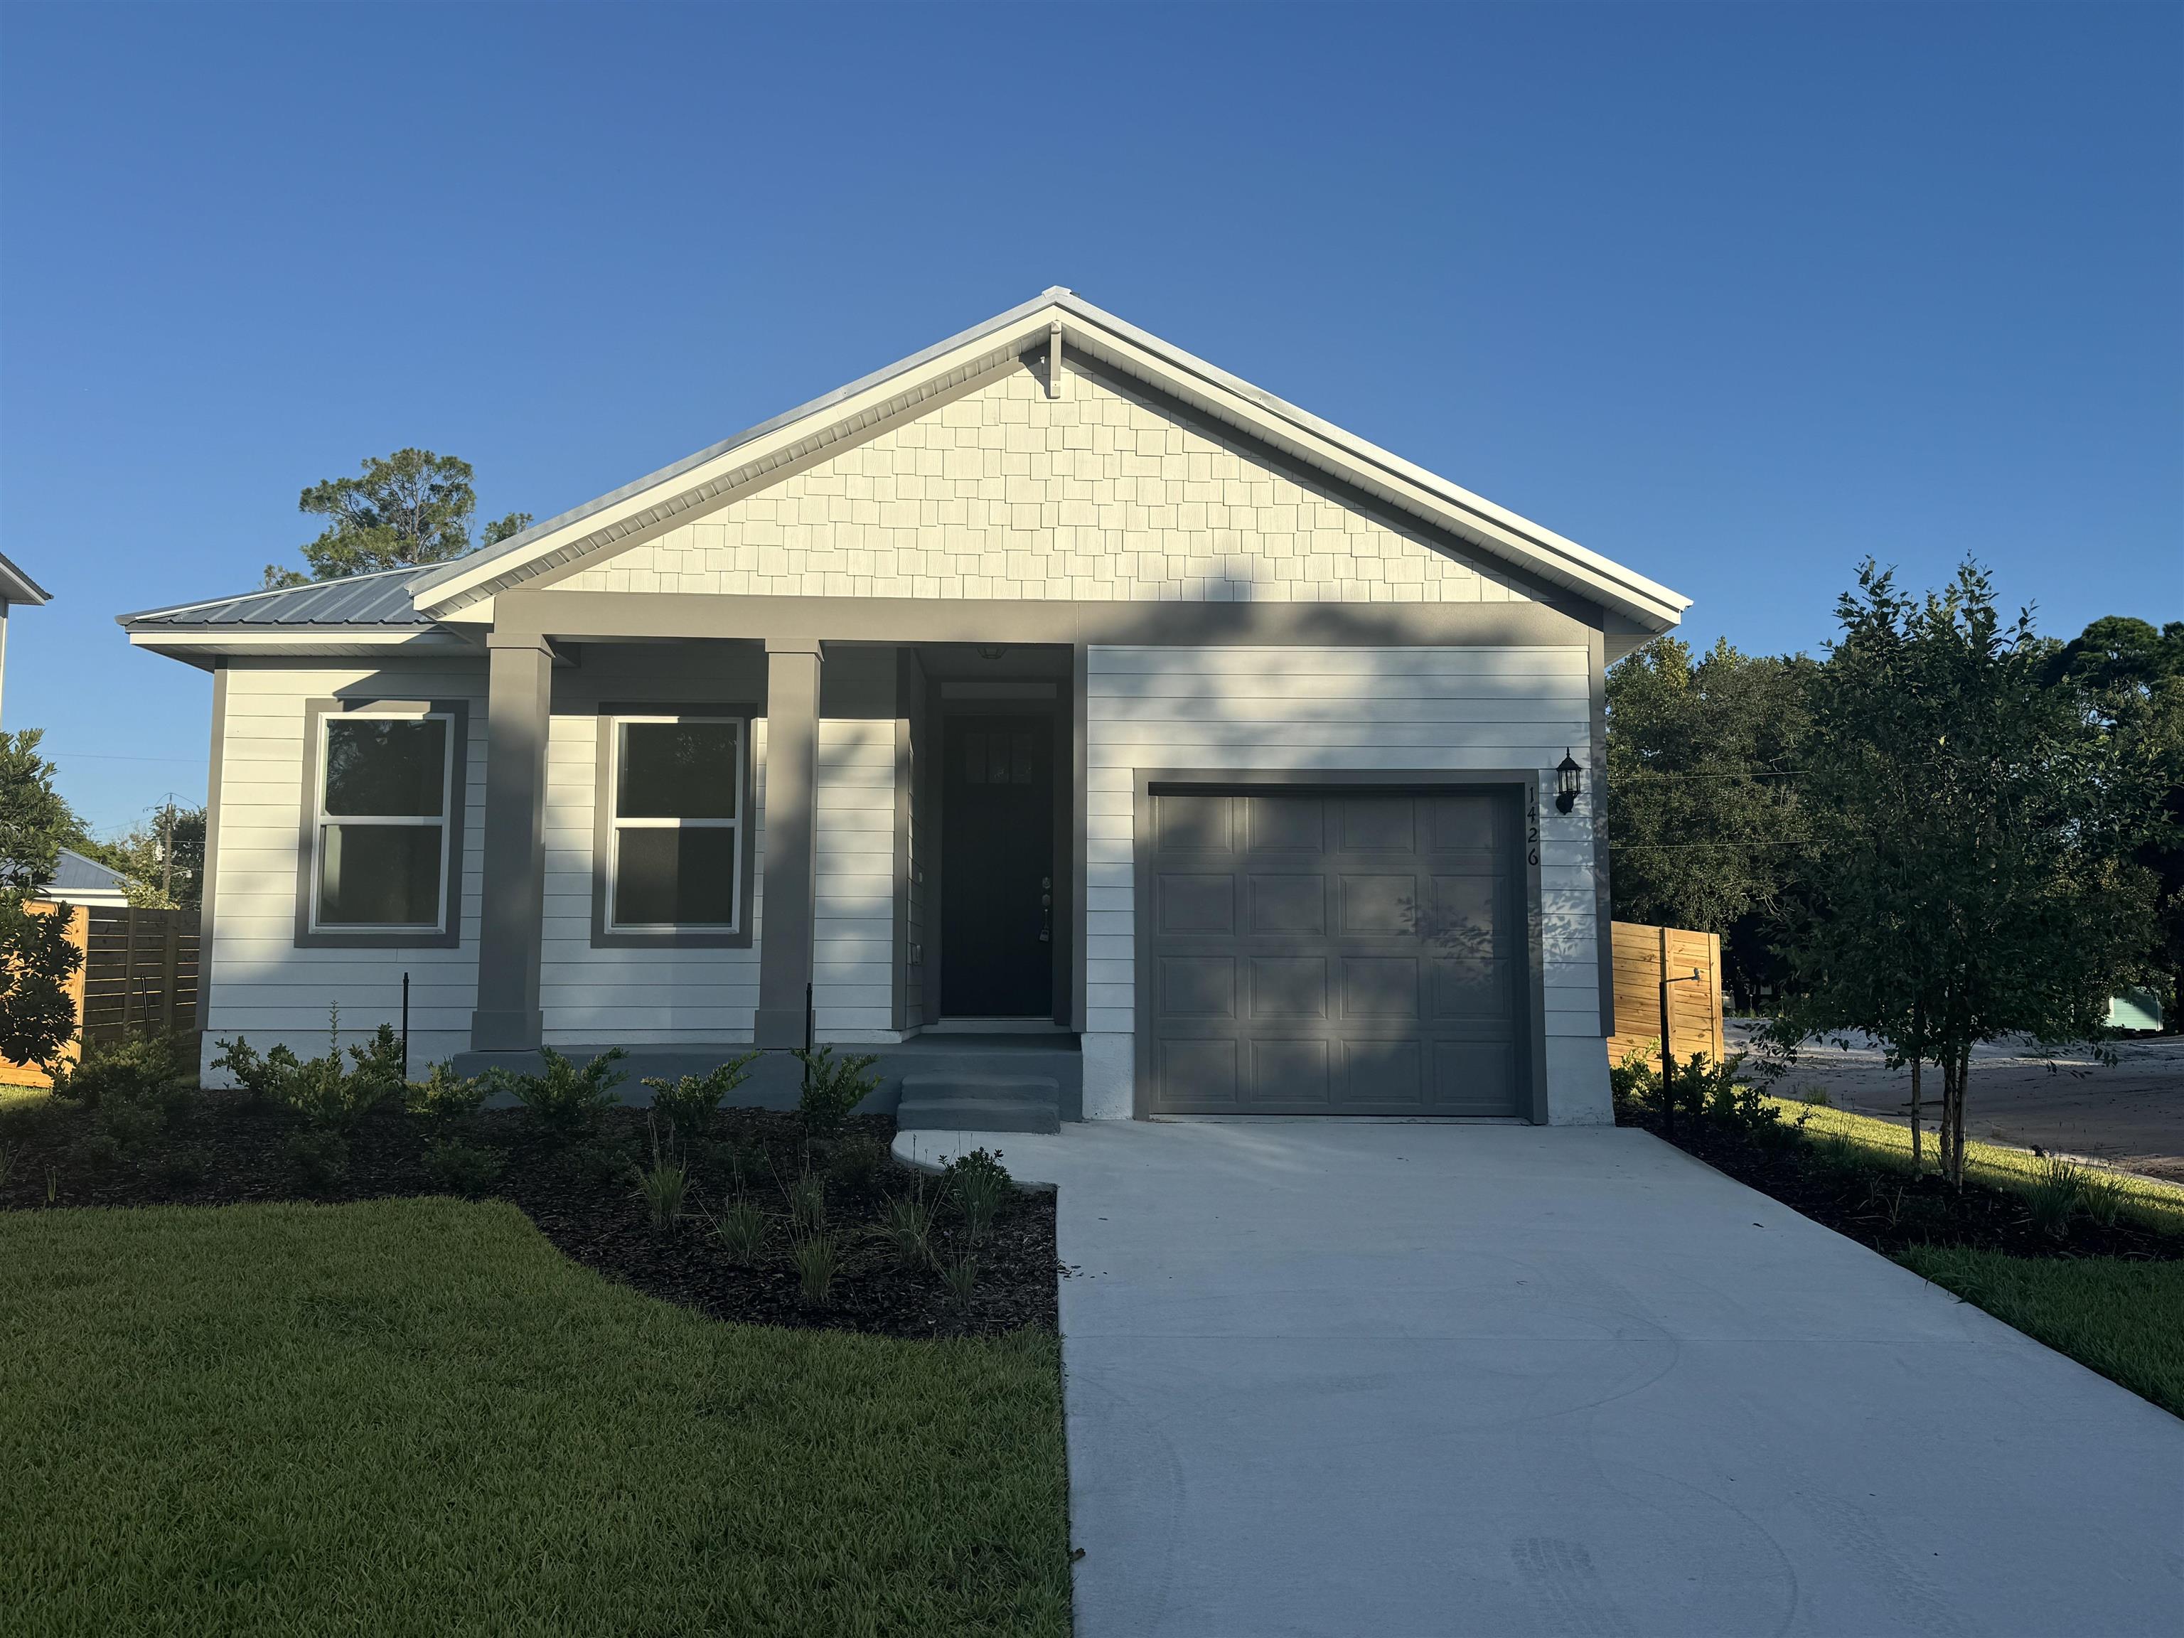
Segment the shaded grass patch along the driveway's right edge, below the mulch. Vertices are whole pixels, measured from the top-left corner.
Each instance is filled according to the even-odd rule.
[[[2003,1324],[2184,1415],[2184,1262],[2014,1258],[1920,1245],[1898,1258]]]

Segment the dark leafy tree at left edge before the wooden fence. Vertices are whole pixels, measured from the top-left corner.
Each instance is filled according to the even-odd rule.
[[[41,738],[39,729],[0,734],[0,1057],[50,1070],[76,1033],[68,981],[83,952],[68,941],[59,909],[33,911],[28,900],[83,828],[52,788]]]

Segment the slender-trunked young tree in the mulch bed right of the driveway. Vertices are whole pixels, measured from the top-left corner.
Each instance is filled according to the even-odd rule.
[[[1972,1046],[2097,1040],[2151,946],[2129,854],[2151,812],[2031,616],[2003,627],[1974,563],[1922,601],[1865,563],[1813,679],[1811,902],[1784,954],[1780,1044],[1859,1029],[1942,1070],[1942,1166],[1963,1182]]]

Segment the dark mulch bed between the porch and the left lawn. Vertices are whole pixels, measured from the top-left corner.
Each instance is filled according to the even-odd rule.
[[[232,1206],[446,1192],[426,1171],[424,1125],[395,1107],[356,1127],[345,1175],[323,1188],[308,1188],[290,1158],[288,1138],[299,1120],[253,1107],[240,1094],[199,1094],[168,1116],[164,1129],[138,1138],[120,1155],[100,1136],[100,1125],[94,1114],[63,1103],[9,1112],[0,1144],[13,1155],[13,1168],[0,1184],[0,1210],[44,1208],[48,1182],[55,1206]],[[476,1114],[461,1138],[502,1158],[498,1179],[483,1195],[520,1206],[563,1256],[714,1319],[885,1337],[1055,1330],[1055,1197],[1016,1190],[976,1247],[954,1206],[941,1203],[935,1254],[950,1262],[970,1251],[978,1265],[963,1315],[935,1269],[904,1269],[893,1247],[874,1234],[891,1195],[924,1188],[926,1199],[939,1199],[937,1177],[900,1166],[887,1153],[893,1131],[887,1116],[858,1116],[839,1138],[806,1142],[795,1114],[721,1109],[708,1142],[690,1155],[686,1214],[666,1232],[651,1227],[631,1177],[633,1162],[651,1153],[644,1109],[607,1112],[596,1133],[579,1144],[550,1144],[522,1109]],[[729,1197],[738,1160],[745,1197],[771,1219],[764,1249],[749,1267],[734,1265],[710,1227],[710,1212]],[[841,1247],[841,1269],[823,1306],[804,1302],[788,1260],[782,1184],[806,1162],[828,1177],[828,1227]]]

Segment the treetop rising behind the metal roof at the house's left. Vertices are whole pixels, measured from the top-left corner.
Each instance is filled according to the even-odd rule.
[[[461,557],[470,550],[470,520],[478,511],[478,496],[470,461],[432,450],[395,450],[369,456],[360,476],[310,485],[297,498],[297,511],[332,522],[304,546],[310,574],[266,563],[269,590]],[[485,544],[529,526],[531,513],[511,511],[485,526]]]

